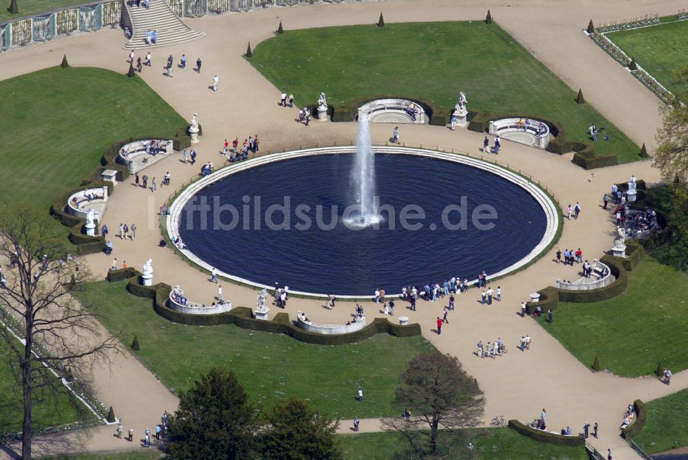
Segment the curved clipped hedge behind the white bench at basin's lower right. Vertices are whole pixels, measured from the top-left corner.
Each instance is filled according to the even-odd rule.
[[[526,303],[528,314],[533,313],[537,306],[540,307],[543,313],[550,308],[555,310],[557,305],[559,305],[559,300],[571,303],[593,303],[622,294],[628,285],[627,272],[632,271],[645,256],[645,250],[638,242],[627,241],[626,243],[627,258],[604,255],[600,259],[601,262],[609,266],[612,274],[616,277],[614,283],[599,289],[590,289],[589,291],[570,291],[554,286],[545,287],[537,292],[540,294],[540,300],[537,303]]]

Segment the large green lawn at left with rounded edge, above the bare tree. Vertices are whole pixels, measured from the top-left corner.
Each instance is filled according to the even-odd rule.
[[[60,56],[54,58],[58,64]],[[140,78],[90,67],[51,67],[0,81],[0,100],[0,204],[46,213],[57,195],[100,166],[114,142],[172,136],[184,124]]]

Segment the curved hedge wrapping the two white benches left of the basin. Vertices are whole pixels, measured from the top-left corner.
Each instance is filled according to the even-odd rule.
[[[191,138],[189,138],[189,135],[186,131],[187,129],[188,127],[186,126],[181,127],[172,138],[173,149],[176,151],[186,149],[186,147],[191,145]],[[122,145],[129,144],[130,142],[136,142],[138,140],[163,138],[164,137],[160,136],[129,138],[120,142],[116,142],[115,144],[111,144],[111,146],[105,149],[103,156],[100,157],[100,166],[95,168],[94,171],[87,175],[87,177],[81,181],[80,186],[76,188],[69,188],[56,197],[52,206],[50,206],[50,215],[60,221],[64,226],[70,228],[67,239],[69,239],[72,244],[76,245],[80,254],[94,254],[96,252],[105,250],[105,238],[102,236],[89,237],[84,228],[86,220],[65,212],[65,206],[67,206],[69,197],[74,195],[74,193],[80,192],[84,188],[101,188],[104,186],[107,186],[108,195],[112,195],[112,193],[115,191],[114,184],[112,184],[112,182],[105,182],[103,179],[100,179],[100,173],[106,169],[117,171],[116,179],[120,182],[129,177],[129,168],[126,165],[119,164],[116,161],[118,155],[120,154],[120,148]],[[96,234],[99,233],[100,225],[98,222],[96,222]]]

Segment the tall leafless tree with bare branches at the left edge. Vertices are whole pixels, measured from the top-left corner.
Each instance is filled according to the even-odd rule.
[[[55,384],[50,369],[68,366],[85,382],[89,364],[120,349],[113,336],[103,337],[94,316],[72,297],[89,281],[89,272],[66,254],[65,242],[50,221],[32,210],[1,212],[0,261],[9,267],[0,274],[0,335],[21,381],[23,460],[31,459],[32,393]]]

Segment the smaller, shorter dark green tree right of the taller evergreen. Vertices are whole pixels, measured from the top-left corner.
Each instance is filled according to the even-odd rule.
[[[308,403],[290,396],[266,416],[261,432],[261,457],[270,460],[335,460],[342,458],[336,439],[339,422],[316,414]]]

